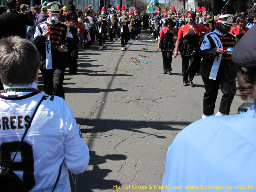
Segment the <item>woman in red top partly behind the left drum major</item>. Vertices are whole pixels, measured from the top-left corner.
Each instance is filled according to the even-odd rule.
[[[76,48],[72,52],[72,56],[67,56],[68,61],[68,68],[69,68],[69,74],[77,74],[77,58],[78,58],[78,45],[80,43],[79,36],[82,36],[84,34],[84,27],[81,23],[77,22],[77,14],[75,11],[71,10],[67,14],[67,21],[66,23],[69,25],[70,32],[73,35],[73,41],[76,43]],[[77,29],[80,29],[81,32],[78,34]]]

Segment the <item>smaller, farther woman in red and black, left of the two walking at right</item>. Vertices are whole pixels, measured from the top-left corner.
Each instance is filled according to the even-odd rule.
[[[164,64],[163,74],[166,74],[168,72],[169,75],[172,75],[172,52],[175,49],[173,35],[174,33],[178,34],[178,29],[173,28],[175,27],[175,22],[173,22],[170,18],[166,19],[164,24],[166,27],[161,29],[157,51],[159,51],[159,48],[162,51]]]

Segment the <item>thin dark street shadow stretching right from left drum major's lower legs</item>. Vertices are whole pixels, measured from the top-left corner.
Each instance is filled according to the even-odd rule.
[[[71,87],[64,87],[65,93],[100,93],[100,92],[115,92],[115,91],[128,91],[124,90],[121,88],[116,88],[116,89],[99,89],[99,88],[82,88],[82,87],[77,87],[77,88],[71,88]]]

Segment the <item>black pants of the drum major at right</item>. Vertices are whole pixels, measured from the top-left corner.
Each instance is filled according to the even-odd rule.
[[[203,101],[203,113],[204,115],[213,115],[215,102],[218,96],[219,86],[221,86],[221,92],[223,93],[220,101],[220,113],[229,115],[230,106],[236,94],[236,80],[223,73],[220,80],[212,80],[203,77],[205,85],[204,101]]]

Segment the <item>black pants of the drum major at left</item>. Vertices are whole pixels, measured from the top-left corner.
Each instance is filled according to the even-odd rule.
[[[40,69],[44,79],[44,92],[65,99],[63,89],[65,69]]]

